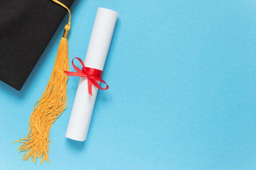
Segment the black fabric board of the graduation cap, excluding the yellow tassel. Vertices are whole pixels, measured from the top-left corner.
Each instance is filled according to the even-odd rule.
[[[21,90],[66,14],[51,0],[0,0],[1,81]]]

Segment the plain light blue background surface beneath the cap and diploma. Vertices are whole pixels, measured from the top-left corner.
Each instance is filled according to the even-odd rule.
[[[65,138],[70,77],[50,164],[23,162],[10,144],[28,132],[66,16],[22,90],[0,82],[1,169],[255,170],[256,1],[75,0],[70,62],[85,58],[97,7],[119,16],[87,140]]]

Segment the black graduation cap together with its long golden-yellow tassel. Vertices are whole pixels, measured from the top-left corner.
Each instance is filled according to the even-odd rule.
[[[20,90],[56,32],[67,11],[68,24],[57,50],[50,80],[42,97],[36,101],[29,118],[29,131],[19,138],[23,160],[49,162],[50,129],[63,113],[67,101],[68,34],[70,6],[74,0],[0,1],[0,80]],[[67,5],[67,6],[66,6]],[[31,106],[32,107],[32,106]]]

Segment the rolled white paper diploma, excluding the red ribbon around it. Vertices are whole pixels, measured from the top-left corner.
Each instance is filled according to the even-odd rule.
[[[117,16],[118,12],[116,11],[98,8],[85,57],[85,67],[103,70],[117,22]],[[67,138],[78,141],[86,140],[97,91],[98,89],[92,85],[92,96],[90,96],[87,78],[80,78],[68,122]]]

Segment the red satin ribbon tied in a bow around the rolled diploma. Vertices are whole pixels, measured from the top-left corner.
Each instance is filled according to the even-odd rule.
[[[79,62],[82,64],[83,68],[82,70],[80,70],[77,66],[75,66],[75,64],[73,63],[73,60],[74,59],[78,59]],[[82,60],[78,57],[75,57],[73,60],[72,60],[72,65],[73,67],[75,68],[75,70],[77,70],[77,72],[71,72],[71,71],[64,71],[65,74],[67,75],[71,75],[71,76],[77,76],[77,77],[87,77],[87,81],[88,81],[88,93],[92,96],[92,84],[95,85],[98,89],[101,89],[101,90],[107,90],[109,89],[109,86],[107,85],[106,82],[104,82],[102,79],[101,79],[101,76],[102,76],[102,73],[103,71],[102,70],[98,70],[98,69],[93,69],[93,68],[90,68],[90,67],[85,67],[85,65],[83,64]],[[98,83],[97,81],[100,81],[100,82],[103,82],[104,84],[106,84],[106,88],[102,88]]]

